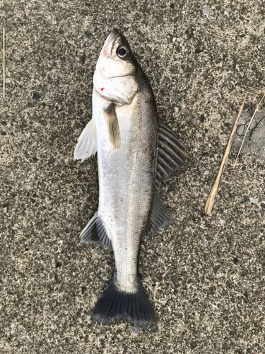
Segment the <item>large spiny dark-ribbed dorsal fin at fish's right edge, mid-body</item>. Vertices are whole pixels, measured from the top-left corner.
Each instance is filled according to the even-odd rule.
[[[170,176],[177,169],[187,166],[187,147],[179,142],[177,135],[162,120],[158,122],[158,163],[155,185]]]

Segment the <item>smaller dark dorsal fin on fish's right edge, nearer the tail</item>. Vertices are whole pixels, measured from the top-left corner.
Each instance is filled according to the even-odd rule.
[[[146,223],[146,229],[143,232],[142,238],[145,239],[146,236],[151,236],[160,229],[160,227],[166,227],[172,222],[173,215],[167,210],[165,205],[163,205],[162,200],[157,192],[155,192],[153,207],[151,209],[148,221]]]

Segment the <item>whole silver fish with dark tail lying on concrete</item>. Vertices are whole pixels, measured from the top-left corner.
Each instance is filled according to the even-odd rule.
[[[140,330],[158,331],[139,276],[140,244],[172,222],[158,185],[187,166],[187,147],[158,119],[151,84],[116,28],[98,57],[92,101],[93,116],[74,158],[98,154],[99,205],[81,232],[81,244],[112,250],[115,269],[91,319],[101,324],[125,320]]]

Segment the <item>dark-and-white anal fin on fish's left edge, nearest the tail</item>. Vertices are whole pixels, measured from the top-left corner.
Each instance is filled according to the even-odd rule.
[[[97,244],[112,251],[112,241],[107,236],[104,222],[98,212],[89,220],[85,229],[81,232],[81,244]]]

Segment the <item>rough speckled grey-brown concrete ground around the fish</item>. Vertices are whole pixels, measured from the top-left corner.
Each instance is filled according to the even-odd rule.
[[[265,353],[264,161],[232,150],[204,205],[245,91],[264,92],[264,1],[1,0],[0,353]],[[175,223],[141,246],[159,331],[90,321],[112,253],[79,245],[97,210],[96,157],[73,160],[112,28],[151,80],[192,166],[160,186]],[[1,77],[2,79],[2,77]],[[264,110],[261,105],[260,110]]]

